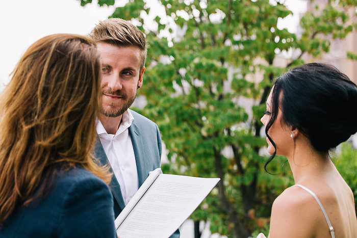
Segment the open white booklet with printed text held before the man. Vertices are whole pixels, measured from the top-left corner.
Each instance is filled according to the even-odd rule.
[[[193,213],[219,178],[150,172],[115,219],[120,238],[167,238]]]

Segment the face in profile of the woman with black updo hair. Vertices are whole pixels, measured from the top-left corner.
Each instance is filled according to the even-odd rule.
[[[272,92],[274,87],[271,89],[270,94],[268,96],[266,105],[267,110],[264,112],[264,116],[260,119],[260,121],[266,126],[271,119],[271,105],[272,105]],[[293,139],[290,137],[291,131],[289,126],[283,120],[283,112],[281,108],[278,108],[278,114],[268,130],[268,135],[273,140],[276,146],[276,154],[278,155],[288,155],[288,152],[291,147],[291,143]],[[273,154],[275,148],[271,144],[271,141],[266,138],[268,143],[268,153]]]

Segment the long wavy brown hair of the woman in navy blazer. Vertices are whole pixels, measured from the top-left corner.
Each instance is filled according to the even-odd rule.
[[[0,96],[0,225],[45,196],[59,168],[82,166],[109,183],[91,153],[100,65],[95,42],[72,34],[36,41],[17,63]]]

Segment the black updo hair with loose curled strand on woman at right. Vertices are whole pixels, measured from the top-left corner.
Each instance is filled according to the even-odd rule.
[[[283,121],[310,140],[317,151],[328,152],[357,131],[357,86],[334,66],[310,63],[295,67],[276,78],[272,92],[268,136],[278,109]]]

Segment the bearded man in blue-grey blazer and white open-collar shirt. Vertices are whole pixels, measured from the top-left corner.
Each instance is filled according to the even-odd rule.
[[[129,109],[143,83],[144,34],[129,21],[111,18],[100,21],[90,37],[97,42],[103,75],[95,156],[113,172],[110,188],[117,217],[148,173],[160,167],[161,137],[154,122]],[[171,237],[179,236],[177,230]]]

